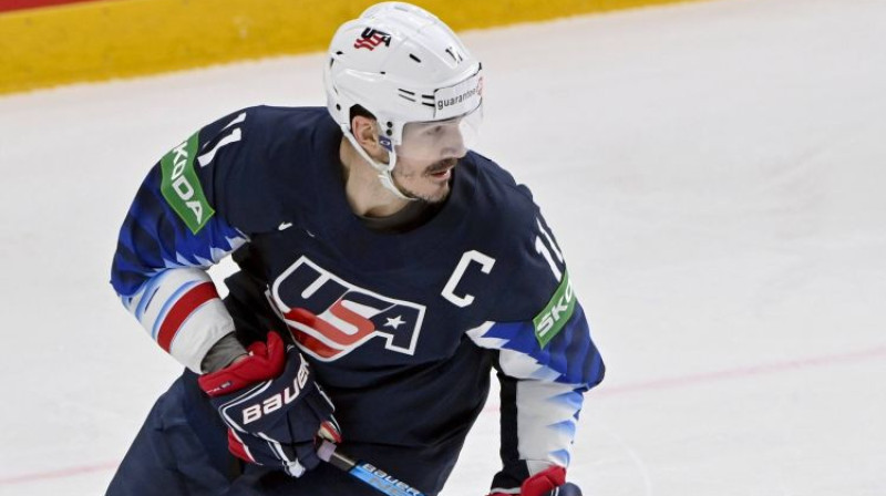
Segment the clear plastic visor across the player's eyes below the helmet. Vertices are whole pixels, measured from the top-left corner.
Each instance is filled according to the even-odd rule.
[[[445,121],[411,122],[403,126],[402,144],[396,155],[413,161],[441,161],[463,157],[480,137],[483,104],[473,111]]]

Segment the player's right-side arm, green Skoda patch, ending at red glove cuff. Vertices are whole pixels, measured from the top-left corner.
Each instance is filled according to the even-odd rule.
[[[577,490],[564,484],[583,394],[602,380],[605,368],[540,215],[519,238],[495,317],[467,332],[497,351],[504,467],[492,495],[542,496],[557,487],[568,494]]]

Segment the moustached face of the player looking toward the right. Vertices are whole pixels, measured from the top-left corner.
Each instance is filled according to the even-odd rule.
[[[403,126],[403,144],[396,148],[393,170],[396,186],[429,203],[446,199],[452,170],[467,154],[465,141],[476,135],[480,112],[475,114]]]

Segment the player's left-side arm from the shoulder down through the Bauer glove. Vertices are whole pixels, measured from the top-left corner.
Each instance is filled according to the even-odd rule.
[[[300,476],[319,463],[315,436],[340,441],[332,403],[278,334],[251,343],[247,354],[206,273],[248,241],[245,232],[261,231],[274,218],[261,203],[268,196],[268,178],[257,168],[264,145],[248,143],[249,134],[266,133],[250,126],[250,112],[258,111],[204,127],[152,168],[121,228],[112,285],[157,344],[193,371],[208,372],[199,385],[228,426],[230,452]],[[285,405],[261,409],[284,394]]]

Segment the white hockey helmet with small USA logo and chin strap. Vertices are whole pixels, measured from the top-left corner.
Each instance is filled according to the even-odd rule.
[[[329,46],[323,82],[332,118],[375,167],[382,184],[402,198],[408,197],[391,178],[398,154],[424,159],[435,153],[427,146],[427,133],[420,130],[445,121],[457,131],[457,146],[464,151],[482,120],[481,63],[446,24],[410,3],[378,3],[342,24]],[[378,120],[379,140],[389,153],[387,164],[357,143],[351,132],[354,105]]]

